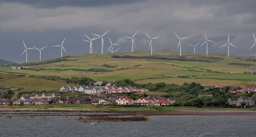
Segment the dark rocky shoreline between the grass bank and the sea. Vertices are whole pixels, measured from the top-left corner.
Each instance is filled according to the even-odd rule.
[[[95,109],[0,109],[0,116],[12,118],[35,116],[79,116],[81,122],[125,122],[148,121],[153,115],[195,115],[195,116],[254,116],[255,111],[109,111]]]

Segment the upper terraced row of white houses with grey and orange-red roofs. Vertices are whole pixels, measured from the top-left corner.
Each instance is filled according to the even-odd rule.
[[[80,92],[86,94],[122,94],[129,92],[148,92],[147,89],[136,87],[116,87],[116,86],[62,86],[61,92]]]

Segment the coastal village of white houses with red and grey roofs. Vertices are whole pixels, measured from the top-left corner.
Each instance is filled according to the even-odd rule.
[[[94,86],[62,86],[60,91],[53,93],[41,94],[23,94],[20,99],[11,102],[9,99],[1,99],[0,104],[8,105],[46,105],[46,104],[117,104],[117,105],[161,105],[170,106],[178,99],[167,98],[164,95],[147,95],[150,92],[147,89],[137,89],[136,87],[116,87],[116,86],[100,86],[100,81],[94,83]],[[110,83],[110,82],[109,82]],[[205,90],[209,87],[205,87]],[[215,86],[220,91],[225,91],[225,86]],[[247,93],[254,93],[255,86],[234,85],[229,89],[229,93],[240,95],[238,98],[228,98],[227,102],[232,106],[255,106],[254,96],[247,97]],[[71,96],[61,97],[60,92],[84,93],[83,97],[75,94]],[[132,94],[127,93],[145,93],[147,96],[135,98]],[[89,95],[89,96],[88,96]],[[102,96],[100,96],[102,95]],[[185,97],[186,95],[182,95]],[[213,97],[212,94],[198,94],[198,97]],[[243,104],[244,103],[244,104]]]

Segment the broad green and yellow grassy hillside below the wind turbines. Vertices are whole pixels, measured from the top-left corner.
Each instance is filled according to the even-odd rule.
[[[59,89],[62,85],[68,85],[64,83],[65,80],[41,81],[43,79],[38,78],[42,76],[57,76],[62,79],[85,76],[95,81],[130,79],[138,84],[165,82],[181,85],[184,82],[197,82],[204,86],[251,85],[255,84],[256,77],[243,73],[250,72],[251,64],[252,72],[254,72],[255,61],[255,57],[236,55],[227,57],[227,54],[220,53],[209,53],[209,55],[182,53],[182,56],[179,56],[179,52],[171,50],[162,50],[153,55],[146,51],[86,54],[14,65],[30,68],[42,67],[38,70],[1,67],[0,77],[3,79],[0,79],[0,85],[16,87],[17,83],[22,83],[20,86],[26,85],[34,89],[43,89],[43,87],[46,89],[46,86],[49,89],[50,85],[54,85],[54,89]],[[14,74],[24,74],[26,77],[31,75],[34,78],[15,78]],[[20,79],[22,82],[17,81]]]

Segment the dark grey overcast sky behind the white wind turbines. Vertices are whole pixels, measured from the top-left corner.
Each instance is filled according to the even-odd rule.
[[[110,30],[104,38],[103,53],[110,53],[108,37],[112,43],[121,44],[117,52],[131,52],[131,39],[134,36],[136,47],[133,50],[150,51],[151,37],[153,54],[164,49],[177,50],[180,38],[182,52],[188,52],[188,44],[201,44],[207,38],[208,53],[225,53],[228,41],[230,54],[255,56],[256,35],[255,0],[1,0],[0,2],[0,59],[21,63],[26,61],[22,40],[27,48],[43,48],[41,58],[59,58],[60,47],[63,56],[89,54],[90,44],[84,35],[93,38]],[[196,53],[206,53],[206,45],[196,46]],[[190,53],[193,47],[189,47]],[[101,53],[101,38],[93,41],[93,53]],[[178,56],[179,54],[177,54]],[[39,60],[38,50],[28,50],[28,62]]]

